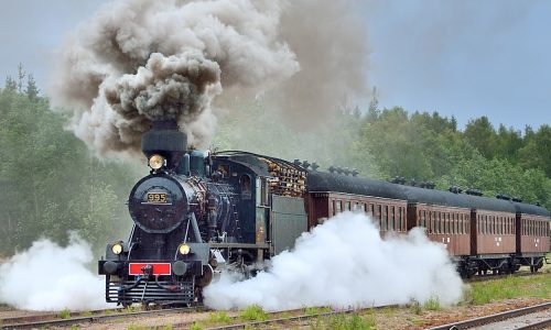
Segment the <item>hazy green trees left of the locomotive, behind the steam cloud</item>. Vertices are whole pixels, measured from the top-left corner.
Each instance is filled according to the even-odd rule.
[[[41,237],[65,243],[75,230],[101,251],[131,223],[123,200],[137,176],[90,156],[32,75],[20,67],[19,78],[0,89],[0,255]]]

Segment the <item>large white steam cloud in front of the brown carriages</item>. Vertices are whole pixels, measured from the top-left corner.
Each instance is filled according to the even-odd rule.
[[[387,304],[447,305],[461,299],[463,282],[445,248],[421,229],[381,240],[365,215],[345,212],[304,233],[293,251],[272,258],[268,272],[233,282],[223,276],[205,292],[216,309],[259,305],[267,310]]]

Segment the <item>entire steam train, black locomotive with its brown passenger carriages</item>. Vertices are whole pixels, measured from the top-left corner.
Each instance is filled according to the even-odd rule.
[[[151,173],[130,193],[130,238],[107,244],[98,264],[108,302],[201,302],[220,270],[251,275],[303,232],[347,210],[371,216],[381,235],[424,227],[464,276],[522,265],[537,272],[549,251],[549,211],[518,199],[186,145],[175,121],[154,121],[142,136]]]

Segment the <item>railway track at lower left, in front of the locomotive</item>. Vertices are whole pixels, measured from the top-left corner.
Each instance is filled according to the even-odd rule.
[[[99,323],[102,321],[132,319],[148,316],[165,316],[177,312],[203,311],[204,307],[162,308],[144,311],[127,311],[125,309],[107,309],[82,314],[74,314],[67,318],[62,318],[60,314],[24,316],[0,319],[0,329],[36,329],[48,327],[67,327],[82,323]]]

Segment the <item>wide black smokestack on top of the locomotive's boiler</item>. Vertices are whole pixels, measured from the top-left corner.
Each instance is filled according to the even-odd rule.
[[[175,119],[154,120],[149,132],[141,138],[141,150],[149,158],[153,154],[160,154],[166,158],[166,166],[174,168],[185,154],[187,148],[187,136],[179,131]]]

